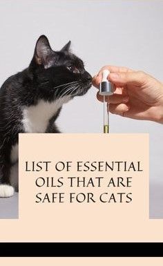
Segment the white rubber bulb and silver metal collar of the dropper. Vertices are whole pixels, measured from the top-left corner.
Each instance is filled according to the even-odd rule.
[[[99,85],[99,95],[113,95],[113,84],[108,81],[109,70],[104,69],[102,72],[102,82]]]

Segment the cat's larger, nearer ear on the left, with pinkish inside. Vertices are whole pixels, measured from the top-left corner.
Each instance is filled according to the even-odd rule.
[[[46,66],[48,55],[52,54],[48,38],[45,35],[41,35],[37,40],[35,46],[35,61],[37,64],[44,64]]]

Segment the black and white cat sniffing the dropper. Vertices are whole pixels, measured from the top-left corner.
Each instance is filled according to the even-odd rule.
[[[30,66],[1,86],[0,197],[10,197],[17,189],[10,173],[18,162],[18,134],[59,133],[55,120],[61,106],[91,86],[92,77],[83,61],[69,48],[70,41],[55,52],[41,35]]]

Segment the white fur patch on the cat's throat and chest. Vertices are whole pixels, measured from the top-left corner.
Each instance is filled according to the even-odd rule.
[[[50,118],[57,113],[70,96],[56,99],[54,102],[39,100],[37,105],[23,109],[23,126],[26,133],[45,133]]]

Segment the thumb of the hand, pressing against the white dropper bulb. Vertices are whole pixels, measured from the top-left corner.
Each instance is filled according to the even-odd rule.
[[[117,86],[124,86],[131,83],[136,86],[142,86],[146,82],[146,77],[146,73],[142,71],[118,72],[108,75],[108,79]]]

